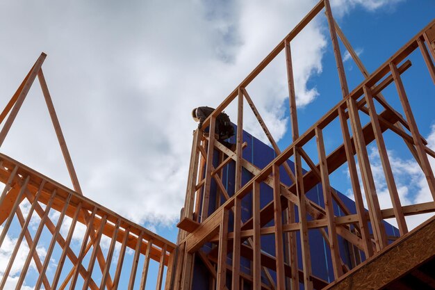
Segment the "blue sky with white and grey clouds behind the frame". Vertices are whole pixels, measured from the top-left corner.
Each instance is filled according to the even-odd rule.
[[[47,53],[42,68],[84,195],[174,241],[196,127],[190,111],[220,104],[315,3],[2,1],[0,100],[6,104],[41,51]],[[370,72],[431,21],[435,10],[429,0],[331,5]],[[323,13],[295,38],[292,54],[302,132],[341,99]],[[354,88],[361,74],[343,47],[342,54]],[[420,72],[427,76],[425,67]],[[411,106],[422,134],[435,138],[433,115],[422,104],[434,86],[424,81],[422,88],[411,86],[417,95]],[[290,145],[284,55],[247,91],[281,149]],[[235,121],[235,106],[226,111]],[[245,129],[265,140],[252,114],[245,116]],[[334,142],[326,138],[327,150]],[[72,187],[38,82],[1,152]],[[394,144],[391,154],[397,162],[411,162],[401,159]],[[344,171],[331,177],[342,192],[350,188],[340,182]],[[414,187],[415,195],[423,190]]]

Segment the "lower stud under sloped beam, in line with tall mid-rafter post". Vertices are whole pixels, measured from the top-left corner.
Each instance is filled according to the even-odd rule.
[[[296,193],[299,202],[299,232],[302,248],[302,266],[304,268],[304,287],[306,290],[313,289],[311,281],[311,255],[308,239],[308,225],[306,223],[306,200],[304,191],[304,173],[302,172],[302,161],[297,146],[293,147],[295,156],[295,172],[296,172]]]

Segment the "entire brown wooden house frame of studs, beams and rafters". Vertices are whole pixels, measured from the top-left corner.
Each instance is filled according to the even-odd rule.
[[[293,80],[293,65],[291,58],[292,40],[311,20],[325,9],[331,41],[334,47],[334,56],[340,80],[341,96],[336,106],[315,122],[311,128],[303,134],[299,134],[297,120],[296,95]],[[42,73],[42,63],[46,58],[41,54],[35,65],[22,81],[17,92],[10,99],[0,114],[0,122],[6,119],[0,131],[0,147],[5,140],[15,117],[22,106],[28,90],[35,78],[38,77],[44,99],[49,108],[51,121],[53,122],[56,136],[63,152],[67,170],[72,179],[74,191],[62,186],[53,180],[41,175],[11,159],[0,154],[0,182],[5,188],[0,195],[0,221],[3,225],[3,232],[0,234],[0,245],[6,239],[15,216],[22,229],[19,233],[17,244],[13,255],[8,261],[5,275],[0,282],[0,288],[4,287],[8,274],[12,268],[17,249],[24,238],[29,246],[29,253],[26,257],[23,271],[19,275],[17,289],[22,287],[26,277],[26,269],[31,261],[35,261],[38,269],[38,280],[35,289],[44,285],[45,289],[64,289],[69,284],[74,289],[79,276],[83,277],[83,289],[133,289],[135,282],[138,283],[140,275],[140,289],[145,289],[149,263],[158,263],[156,289],[190,289],[192,287],[193,268],[195,257],[201,259],[211,273],[210,289],[244,289],[243,285],[250,284],[252,289],[297,289],[299,282],[304,284],[305,289],[320,289],[327,286],[328,282],[315,277],[311,269],[310,253],[310,231],[320,231],[322,239],[325,240],[334,269],[334,278],[343,280],[344,277],[353,275],[351,267],[363,269],[368,261],[381,257],[384,252],[391,250],[394,245],[402,245],[409,239],[406,216],[423,214],[435,211],[435,202],[422,204],[410,204],[403,206],[397,193],[397,186],[391,169],[384,140],[384,133],[391,131],[403,138],[405,145],[420,165],[424,173],[429,191],[435,200],[435,178],[429,164],[427,154],[434,157],[435,152],[427,147],[427,141],[422,138],[413,117],[408,96],[402,83],[402,74],[411,67],[407,60],[409,54],[419,49],[422,58],[427,65],[427,73],[432,76],[435,83],[435,66],[432,58],[435,56],[435,20],[429,23],[422,31],[417,33],[411,40],[399,49],[388,61],[382,64],[375,72],[370,74],[354,50],[350,46],[343,32],[334,21],[329,6],[329,0],[320,0],[314,8],[302,19],[299,24],[279,42],[268,56],[236,87],[231,94],[225,98],[215,111],[207,118],[201,129],[208,127],[210,132],[214,131],[217,115],[221,113],[234,99],[237,99],[237,134],[236,151],[232,152],[216,140],[214,134],[202,136],[202,130],[193,132],[192,152],[187,179],[186,201],[181,211],[181,220],[177,244],[163,239],[161,236],[136,225],[113,211],[85,198],[81,192],[79,179],[72,164],[72,158],[67,149],[63,132],[54,111],[54,104],[48,90],[47,83]],[[350,54],[359,69],[364,80],[349,91],[345,69],[341,58],[339,40],[350,51]],[[285,50],[286,72],[288,82],[290,127],[292,131],[292,142],[284,150],[280,150],[277,142],[261,118],[252,97],[247,92],[247,86],[258,74],[282,51]],[[395,83],[402,108],[397,111],[404,111],[404,117],[397,113],[395,108],[388,104],[388,100],[381,92],[389,84]],[[254,93],[255,92],[250,92]],[[265,132],[272,145],[276,157],[264,168],[257,168],[254,164],[243,159],[243,149],[247,143],[243,140],[243,106],[246,103],[252,108],[256,119]],[[379,103],[384,111],[378,113],[375,109]],[[370,117],[370,122],[361,124],[360,113]],[[6,118],[7,117],[7,118]],[[343,144],[336,147],[330,154],[326,154],[323,130],[334,120],[339,120],[340,129],[343,135]],[[350,134],[352,130],[352,136]],[[319,163],[313,162],[305,150],[304,145],[314,140],[317,143],[317,156]],[[384,169],[384,178],[390,193],[393,207],[381,209],[377,197],[377,188],[371,172],[371,163],[368,158],[367,146],[375,141],[379,150],[381,164]],[[213,153],[219,153],[219,164],[213,166]],[[361,171],[359,178],[356,169],[355,156]],[[295,169],[290,169],[288,159],[293,157]],[[309,166],[309,171],[302,168],[302,159]],[[234,193],[230,194],[229,188],[222,183],[222,170],[233,163],[236,168]],[[352,213],[345,207],[336,191],[329,184],[329,175],[347,163],[350,171],[352,190],[356,204],[356,212]],[[291,184],[283,182],[280,168],[290,177]],[[249,181],[242,178],[242,172],[246,170],[252,174]],[[219,197],[211,200],[212,181],[219,191]],[[363,207],[363,195],[360,182],[368,202],[368,209]],[[306,193],[320,184],[324,203],[313,202],[306,198]],[[263,186],[272,189],[273,200],[269,204],[260,204]],[[222,198],[220,195],[222,193]],[[241,204],[242,200],[252,193],[252,216],[245,223],[242,222]],[[22,202],[31,202],[28,215],[22,212]],[[215,211],[210,212],[211,205],[215,204]],[[42,208],[45,205],[45,209]],[[222,204],[222,205],[221,205]],[[338,205],[343,214],[337,216],[334,213],[334,204]],[[60,213],[58,223],[49,218],[49,211]],[[297,215],[296,215],[297,211]],[[32,214],[40,217],[40,223],[33,238],[29,232],[28,225],[31,222]],[[229,230],[229,220],[233,217],[233,231]],[[60,225],[65,216],[72,218],[66,238],[60,233]],[[296,217],[297,216],[297,217]],[[400,236],[394,237],[393,245],[388,245],[391,237],[386,236],[384,219],[395,218],[400,229]],[[272,226],[267,226],[273,221]],[[76,224],[86,225],[86,232],[83,236],[79,255],[76,255],[71,248],[72,236]],[[41,261],[35,250],[42,229],[47,227],[51,236],[47,257]],[[370,235],[370,227],[373,234]],[[300,253],[298,257],[296,234],[300,236]],[[268,255],[261,248],[262,235],[274,235],[275,255]],[[110,246],[106,257],[101,251],[101,238],[107,236],[110,239]],[[347,265],[340,257],[338,240],[344,239],[354,249],[354,254],[365,259],[354,259],[352,265]],[[110,277],[110,264],[113,263],[115,244],[121,243],[120,258],[117,260],[115,275]],[[49,280],[46,271],[50,263],[54,246],[56,243],[62,249],[58,260],[58,267],[53,279]],[[202,246],[210,243],[212,249],[206,254]],[[91,250],[88,265],[83,265],[85,255]],[[133,264],[129,271],[128,285],[120,285],[122,269],[124,266],[124,255],[126,249],[134,251]],[[418,251],[418,249],[416,250]],[[231,253],[231,255],[229,255]],[[139,271],[138,261],[140,255],[145,258],[142,271]],[[232,257],[232,259],[229,259]],[[245,273],[240,268],[240,258],[245,257],[252,261],[251,273]],[[426,257],[426,256],[425,256]],[[298,264],[301,259],[302,265]],[[67,269],[69,274],[63,277],[63,267],[66,259],[72,263],[72,268]],[[101,270],[101,282],[98,286],[95,283],[95,265],[98,264]],[[166,280],[163,276],[166,271]],[[270,271],[276,272],[276,278]],[[402,274],[397,274],[402,275]],[[227,281],[231,276],[231,282]],[[149,281],[149,280],[148,280]]]

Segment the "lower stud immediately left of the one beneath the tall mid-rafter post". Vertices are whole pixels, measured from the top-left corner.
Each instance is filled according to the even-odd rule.
[[[284,273],[284,244],[282,230],[281,192],[279,183],[279,166],[272,167],[273,175],[273,202],[275,224],[275,257],[277,264],[277,289],[286,289],[286,273]]]

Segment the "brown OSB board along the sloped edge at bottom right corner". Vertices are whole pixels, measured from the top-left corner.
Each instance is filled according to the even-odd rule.
[[[324,289],[381,289],[435,256],[435,217]]]

